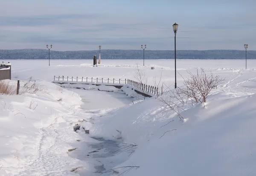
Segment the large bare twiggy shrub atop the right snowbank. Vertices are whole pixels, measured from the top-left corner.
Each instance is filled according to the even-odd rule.
[[[192,102],[204,103],[207,97],[211,94],[212,89],[217,88],[225,79],[222,79],[219,75],[213,76],[212,72],[207,75],[204,69],[201,68],[201,73],[197,74],[189,73],[189,78],[184,79],[184,88],[181,88],[181,93],[186,95]]]

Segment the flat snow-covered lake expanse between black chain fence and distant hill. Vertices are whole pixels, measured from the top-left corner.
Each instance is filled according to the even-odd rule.
[[[137,67],[143,68],[148,77],[148,84],[154,85],[154,77],[166,84],[174,83],[174,60],[104,60],[102,65],[92,67],[92,60],[6,60],[12,63],[13,77],[18,79],[33,79],[52,81],[55,76],[64,77],[98,77],[104,79],[134,79]],[[155,67],[151,70],[151,67]],[[230,77],[233,72],[245,70],[245,60],[177,60],[177,84],[183,82],[187,71],[194,72],[196,68]],[[247,60],[247,72],[255,72],[256,60]]]

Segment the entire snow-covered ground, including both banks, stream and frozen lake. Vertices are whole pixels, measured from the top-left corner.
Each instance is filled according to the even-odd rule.
[[[32,77],[36,86],[0,95],[1,176],[256,176],[256,60],[247,69],[245,60],[177,60],[178,87],[198,68],[225,78],[204,105],[184,105],[182,121],[130,88],[52,83],[54,76],[135,80],[138,64],[148,85],[172,90],[174,60],[6,62],[14,79],[4,82],[20,79],[23,91]]]

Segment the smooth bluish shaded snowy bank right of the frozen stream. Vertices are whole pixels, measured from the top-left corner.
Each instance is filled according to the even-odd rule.
[[[227,95],[208,101],[206,108],[197,104],[183,111],[186,120],[181,122],[160,102],[147,99],[112,112],[90,132],[136,145],[124,151],[132,152],[130,159],[116,166],[139,167],[125,176],[250,175],[256,165],[255,104],[255,94]],[[129,168],[116,171],[121,174]]]

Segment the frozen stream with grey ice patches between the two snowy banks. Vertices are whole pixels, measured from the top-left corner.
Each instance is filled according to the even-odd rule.
[[[81,124],[89,128],[96,125],[94,123],[101,121],[101,118],[111,115],[113,109],[129,105],[133,100],[125,94],[114,92],[83,89],[73,89],[73,91],[78,93],[84,102],[84,105],[81,106],[82,110],[73,115],[83,117],[86,122],[81,122]],[[90,118],[86,117],[88,114]],[[80,123],[78,124],[80,125]],[[127,153],[118,154],[119,152],[116,152],[120,149],[119,145],[122,144],[121,139],[115,139],[112,136],[110,136],[112,139],[104,139],[83,132],[80,135],[83,140],[78,142],[77,149],[70,152],[69,156],[90,163],[90,167],[92,167],[79,170],[80,176],[99,176],[99,174],[109,176],[109,172],[104,173],[106,170],[112,169],[128,158]]]

